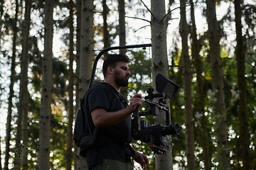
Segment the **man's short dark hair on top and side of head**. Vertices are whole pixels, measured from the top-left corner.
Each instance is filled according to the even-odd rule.
[[[107,55],[105,57],[105,60],[103,62],[103,75],[106,77],[107,74],[107,67],[111,66],[112,68],[115,68],[117,65],[117,62],[129,62],[129,57],[125,54],[119,54],[119,55]]]

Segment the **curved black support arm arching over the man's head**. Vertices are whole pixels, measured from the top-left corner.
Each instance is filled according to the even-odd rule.
[[[95,62],[93,63],[93,67],[92,67],[92,76],[90,79],[90,84],[89,87],[92,86],[93,82],[94,82],[94,77],[95,77],[95,71],[96,71],[96,67],[97,67],[97,62],[99,61],[100,57],[107,51],[110,50],[119,50],[119,49],[128,49],[128,48],[139,48],[142,47],[143,49],[146,49],[146,47],[152,47],[151,44],[141,44],[141,45],[123,45],[123,46],[116,46],[116,47],[107,47],[105,49],[103,49],[95,58]]]

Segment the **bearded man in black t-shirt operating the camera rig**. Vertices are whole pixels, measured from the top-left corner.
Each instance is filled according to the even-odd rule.
[[[86,149],[88,169],[133,169],[131,157],[141,164],[149,165],[149,159],[129,143],[131,137],[131,114],[137,106],[142,106],[142,95],[132,96],[129,105],[119,94],[121,86],[127,86],[129,58],[122,55],[107,55],[103,63],[103,83],[97,83],[87,92],[83,108],[88,122],[92,121],[95,140]]]

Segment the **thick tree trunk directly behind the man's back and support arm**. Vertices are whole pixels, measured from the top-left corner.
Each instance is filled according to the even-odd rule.
[[[92,72],[92,24],[93,1],[82,0],[81,10],[81,37],[80,37],[80,71],[79,71],[79,98],[82,100],[90,84]],[[80,103],[80,102],[79,102]],[[78,152],[80,150],[78,149]],[[79,154],[79,153],[78,153]],[[78,169],[87,169],[86,159],[78,156]]]

